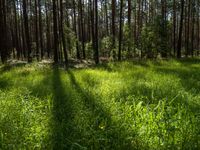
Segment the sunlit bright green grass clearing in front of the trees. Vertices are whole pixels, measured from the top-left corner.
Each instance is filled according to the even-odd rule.
[[[0,67],[0,149],[200,149],[200,60]]]

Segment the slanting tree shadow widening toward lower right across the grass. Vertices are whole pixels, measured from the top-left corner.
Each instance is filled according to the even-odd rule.
[[[111,113],[103,107],[103,104],[98,100],[98,96],[94,97],[92,93],[83,89],[72,71],[67,70],[67,73],[71,84],[76,92],[81,95],[86,109],[90,110],[92,115],[92,118],[90,118],[91,128],[88,132],[93,132],[93,135],[87,137],[89,138],[88,141],[92,139],[87,145],[88,149],[139,149],[139,145],[142,145],[143,149],[148,149],[144,143],[140,143],[139,137],[137,137],[137,145],[133,145],[127,137],[134,137],[136,134],[128,133],[126,129],[121,127],[119,122],[113,121]],[[104,123],[104,129],[100,127],[102,122]]]

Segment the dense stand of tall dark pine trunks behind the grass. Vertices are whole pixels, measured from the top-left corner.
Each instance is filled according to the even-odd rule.
[[[199,55],[200,0],[0,0],[0,55],[122,60]]]

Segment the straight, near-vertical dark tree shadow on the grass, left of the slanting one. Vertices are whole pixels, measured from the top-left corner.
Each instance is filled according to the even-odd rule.
[[[52,81],[53,149],[70,149],[72,134],[75,132],[71,123],[73,119],[73,102],[69,94],[70,91],[66,91],[66,87],[62,83],[58,67],[53,68]]]

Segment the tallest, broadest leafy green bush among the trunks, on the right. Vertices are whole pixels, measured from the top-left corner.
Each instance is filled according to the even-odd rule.
[[[170,54],[170,22],[162,20],[157,16],[153,22],[142,28],[141,50],[142,57],[155,58],[159,54],[167,57]]]

